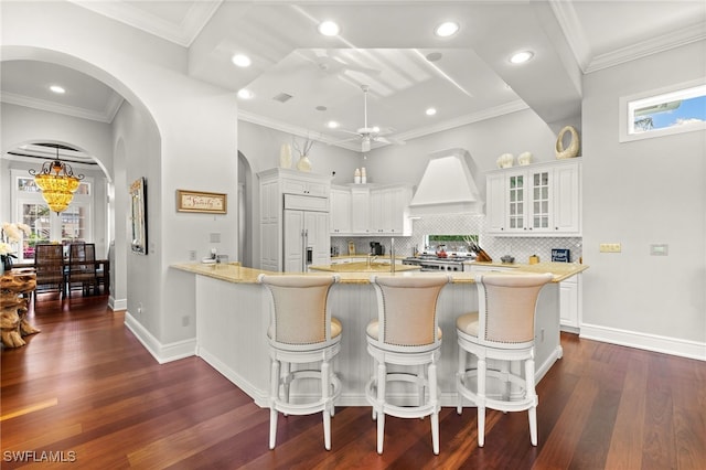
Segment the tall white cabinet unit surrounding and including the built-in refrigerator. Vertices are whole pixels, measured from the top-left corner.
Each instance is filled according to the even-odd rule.
[[[330,222],[329,192],[331,178],[315,173],[274,168],[258,173],[260,186],[260,269],[301,271],[301,263],[329,264]],[[291,206],[286,207],[289,197]],[[297,214],[301,212],[301,214]],[[308,215],[312,213],[313,215]],[[303,227],[297,227],[301,218]],[[286,221],[287,218],[287,221]],[[301,238],[302,231],[308,236]],[[311,248],[311,259],[307,259]],[[287,259],[287,261],[285,261]],[[295,261],[299,259],[299,261]],[[303,259],[303,261],[302,261]],[[293,265],[297,264],[297,268]]]

